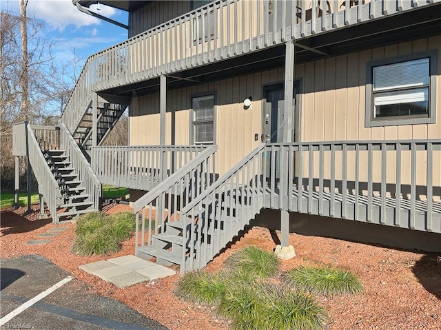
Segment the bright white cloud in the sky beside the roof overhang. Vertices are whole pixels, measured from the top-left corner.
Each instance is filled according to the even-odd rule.
[[[94,6],[91,6],[94,10]],[[101,5],[99,14],[112,17],[118,11],[112,7]],[[71,0],[30,0],[28,3],[28,16],[42,19],[51,30],[63,32],[66,26],[72,24],[76,28],[81,26],[98,25],[100,19],[80,12]]]

